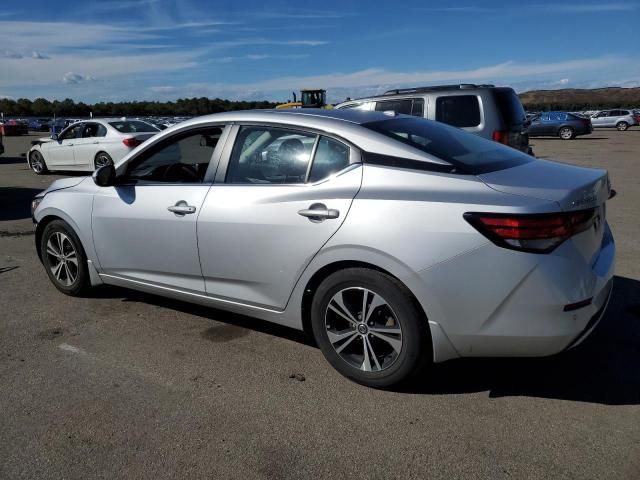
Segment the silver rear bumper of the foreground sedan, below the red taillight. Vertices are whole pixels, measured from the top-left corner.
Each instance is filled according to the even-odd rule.
[[[553,355],[579,344],[602,318],[614,262],[608,225],[590,258],[572,240],[548,255],[487,245],[420,272],[423,306],[460,356]]]

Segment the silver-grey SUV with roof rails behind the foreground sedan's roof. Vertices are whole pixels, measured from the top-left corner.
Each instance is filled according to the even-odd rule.
[[[512,88],[459,84],[395,89],[383,95],[343,102],[335,108],[394,111],[424,117],[532,153],[527,116]]]

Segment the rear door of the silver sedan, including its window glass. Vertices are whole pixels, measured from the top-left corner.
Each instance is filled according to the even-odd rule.
[[[230,138],[198,218],[207,294],[282,310],[347,216],[362,182],[359,152],[285,127],[236,126]]]

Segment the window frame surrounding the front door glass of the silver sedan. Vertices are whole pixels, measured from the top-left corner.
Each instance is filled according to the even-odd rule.
[[[117,183],[118,186],[125,185],[136,185],[136,186],[159,186],[159,185],[211,185],[215,179],[215,174],[220,164],[220,158],[224,148],[226,147],[227,140],[229,138],[229,129],[231,127],[230,123],[224,124],[211,124],[211,125],[198,125],[197,127],[186,128],[184,130],[180,130],[178,132],[172,132],[171,135],[167,135],[164,138],[159,139],[153,144],[149,144],[144,150],[139,152],[136,156],[129,158],[125,163],[123,163],[120,168],[124,168],[124,172],[118,176],[119,181]],[[149,156],[154,155],[159,150],[162,150],[167,145],[171,143],[175,143],[177,141],[182,140],[183,138],[190,137],[192,135],[197,135],[198,132],[203,132],[207,130],[211,130],[214,128],[222,129],[222,133],[220,133],[220,138],[218,139],[218,143],[216,147],[213,149],[211,153],[211,158],[209,159],[209,165],[207,166],[207,170],[204,174],[202,182],[193,183],[193,182],[158,182],[151,180],[135,180],[126,177],[127,171],[134,163],[136,165],[143,162],[145,159],[149,158]],[[176,140],[177,139],[177,140]],[[217,161],[216,161],[217,160]],[[215,166],[214,166],[215,165]],[[212,170],[213,169],[213,170]]]

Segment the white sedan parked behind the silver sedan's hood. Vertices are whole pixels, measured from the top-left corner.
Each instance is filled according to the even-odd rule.
[[[84,120],[59,135],[32,142],[27,155],[37,175],[49,170],[93,171],[113,164],[160,130],[140,120]]]

